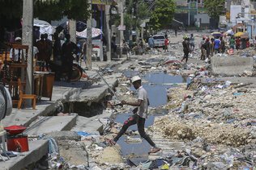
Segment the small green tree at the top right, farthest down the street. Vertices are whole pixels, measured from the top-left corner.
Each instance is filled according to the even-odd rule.
[[[207,14],[214,19],[219,20],[219,16],[223,14],[225,0],[205,0],[204,6]]]

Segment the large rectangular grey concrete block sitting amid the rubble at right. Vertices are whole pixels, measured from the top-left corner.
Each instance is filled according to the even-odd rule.
[[[224,76],[241,75],[246,71],[252,71],[254,68],[254,59],[252,57],[241,56],[213,56],[211,58],[211,71],[213,74]]]

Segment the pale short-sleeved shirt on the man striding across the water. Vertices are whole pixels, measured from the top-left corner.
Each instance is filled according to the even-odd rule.
[[[148,101],[147,101],[147,91],[143,88],[143,86],[140,86],[138,89],[139,100],[142,100],[143,102],[138,108],[137,114],[142,118],[147,118],[147,108],[148,108]]]

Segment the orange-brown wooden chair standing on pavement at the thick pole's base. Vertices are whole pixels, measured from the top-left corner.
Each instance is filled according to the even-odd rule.
[[[26,99],[32,99],[33,101],[33,110],[36,110],[36,95],[35,94],[24,94],[23,93],[23,84],[20,81],[20,78],[18,79],[18,87],[19,87],[19,102],[18,102],[18,109],[20,109],[21,104],[23,102],[23,100]]]

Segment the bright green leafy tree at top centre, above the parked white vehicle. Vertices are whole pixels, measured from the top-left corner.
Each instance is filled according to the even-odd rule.
[[[155,10],[151,15],[150,24],[155,30],[169,26],[173,21],[175,3],[173,0],[156,0]]]

